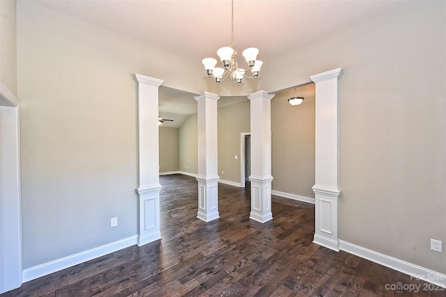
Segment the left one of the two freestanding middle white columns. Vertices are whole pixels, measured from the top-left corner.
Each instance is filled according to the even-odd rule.
[[[209,222],[220,218],[218,212],[217,94],[201,92],[198,103],[198,213]]]

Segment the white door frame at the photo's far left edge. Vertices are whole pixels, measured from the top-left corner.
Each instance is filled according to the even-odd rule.
[[[0,184],[1,294],[20,287],[23,282],[19,102],[1,81]]]

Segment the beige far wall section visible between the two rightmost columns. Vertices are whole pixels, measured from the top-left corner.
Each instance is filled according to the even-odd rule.
[[[293,91],[272,98],[272,190],[314,198],[314,84],[300,89],[305,100],[298,106],[287,100]]]

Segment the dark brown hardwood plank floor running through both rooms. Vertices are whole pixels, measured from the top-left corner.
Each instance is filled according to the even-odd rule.
[[[220,218],[204,223],[196,218],[196,179],[170,175],[160,183],[160,241],[0,296],[446,296],[442,288],[312,243],[311,204],[273,196],[274,218],[261,224],[249,220],[249,188],[219,184]],[[398,283],[406,289],[390,289]]]

